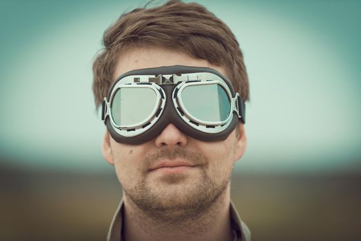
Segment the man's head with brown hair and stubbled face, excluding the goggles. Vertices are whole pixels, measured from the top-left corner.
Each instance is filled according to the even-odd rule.
[[[104,35],[105,50],[94,62],[96,105],[125,72],[148,67],[211,67],[248,99],[243,56],[229,28],[196,3],[169,1],[123,14]],[[142,97],[139,96],[141,99]],[[108,132],[103,155],[116,168],[125,200],[152,216],[187,218],[229,191],[234,162],[244,153],[243,123],[225,140],[205,142],[172,123],[141,145],[117,143]],[[162,217],[161,217],[162,216]]]

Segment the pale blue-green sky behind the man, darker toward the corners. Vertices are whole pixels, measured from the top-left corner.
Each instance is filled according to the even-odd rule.
[[[156,1],[160,3],[161,1]],[[234,31],[251,101],[236,171],[361,169],[361,1],[197,1]],[[147,1],[0,1],[0,160],[108,171],[92,61]]]

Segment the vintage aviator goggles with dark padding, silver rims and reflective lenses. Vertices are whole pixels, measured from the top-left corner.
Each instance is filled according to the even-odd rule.
[[[118,143],[145,143],[169,123],[192,138],[216,141],[245,123],[245,103],[212,68],[154,67],[119,76],[103,100],[101,118]]]

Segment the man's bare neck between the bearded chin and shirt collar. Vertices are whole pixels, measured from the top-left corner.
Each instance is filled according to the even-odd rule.
[[[151,216],[139,209],[123,193],[124,222],[123,238],[126,241],[138,240],[232,240],[231,218],[229,214],[230,188],[201,213],[188,218],[172,219]]]

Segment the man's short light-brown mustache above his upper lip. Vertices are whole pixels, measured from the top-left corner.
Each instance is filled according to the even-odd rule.
[[[207,165],[208,163],[207,158],[200,152],[186,150],[180,147],[163,147],[162,149],[145,157],[143,163],[145,167],[149,168],[158,163],[161,159],[174,160],[176,158],[187,160],[192,165]]]

